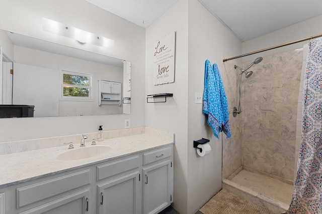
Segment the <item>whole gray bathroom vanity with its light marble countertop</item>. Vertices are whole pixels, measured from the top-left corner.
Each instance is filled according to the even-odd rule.
[[[173,202],[173,136],[142,128],[96,145],[0,155],[0,214],[163,210]]]

